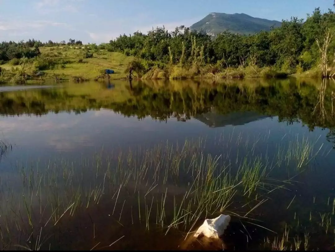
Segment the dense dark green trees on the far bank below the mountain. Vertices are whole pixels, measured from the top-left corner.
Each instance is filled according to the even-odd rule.
[[[173,32],[156,28],[143,34],[122,35],[106,45],[110,51],[123,52],[149,61],[163,63],[198,62],[222,67],[239,67],[248,64],[259,67],[273,66],[285,72],[308,70],[318,64],[319,48],[316,39],[322,40],[327,28],[335,28],[335,14],[329,9],[321,13],[316,8],[306,21],[292,17],[283,20],[282,26],[270,32],[243,36],[224,32],[215,38],[202,32],[178,27]],[[329,54],[334,54],[335,42]]]

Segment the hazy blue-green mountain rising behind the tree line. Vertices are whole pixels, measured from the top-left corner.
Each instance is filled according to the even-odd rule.
[[[224,31],[249,35],[260,31],[270,31],[272,26],[281,26],[281,22],[252,17],[244,13],[226,14],[212,12],[200,21],[192,24],[190,29],[196,31],[202,30],[212,36]]]

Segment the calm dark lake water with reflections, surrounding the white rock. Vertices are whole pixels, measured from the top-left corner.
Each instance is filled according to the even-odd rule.
[[[1,89],[0,139],[12,149],[0,162],[0,247],[181,249],[189,231],[223,212],[232,216],[226,248],[278,249],[289,230],[281,247],[334,249],[333,91],[332,82],[295,79]],[[175,152],[182,154],[169,157]],[[183,198],[210,176],[209,166],[201,168],[208,155],[218,158],[219,177],[235,174],[243,160],[251,170],[260,160],[270,175],[221,211],[169,226],[183,222],[186,210],[196,212],[199,196]],[[175,159],[182,160],[178,169]],[[213,188],[207,190],[216,194]],[[174,222],[179,209],[185,214]]]

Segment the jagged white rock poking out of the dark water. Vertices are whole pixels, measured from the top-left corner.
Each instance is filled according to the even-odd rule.
[[[204,223],[199,227],[194,237],[200,234],[212,239],[219,239],[223,235],[230,221],[229,215],[220,214],[215,219],[205,219]]]

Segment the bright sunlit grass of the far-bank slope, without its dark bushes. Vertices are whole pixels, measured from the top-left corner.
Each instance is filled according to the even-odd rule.
[[[57,74],[64,79],[70,79],[71,76],[81,76],[85,79],[92,80],[99,75],[99,71],[103,69],[113,69],[115,71],[115,73],[111,75],[112,79],[122,78],[126,76],[124,70],[126,69],[128,62],[133,59],[133,57],[127,57],[122,53],[108,52],[104,50],[101,51],[103,55],[93,53],[93,58],[83,59],[83,62],[79,63],[78,54],[81,52],[80,49],[41,47],[40,51],[41,54],[45,56],[57,55],[55,57],[71,61],[66,64],[65,68],[44,71],[49,76]],[[1,65],[1,67],[10,69],[12,66],[7,63]]]

